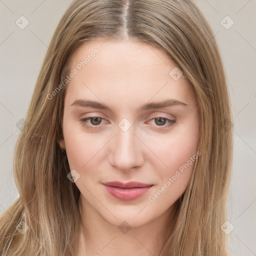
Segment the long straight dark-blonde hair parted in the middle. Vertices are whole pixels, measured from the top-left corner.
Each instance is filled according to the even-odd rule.
[[[126,36],[158,47],[174,61],[195,95],[201,120],[201,155],[177,201],[173,232],[166,228],[160,256],[227,255],[220,226],[226,220],[232,162],[230,103],[214,35],[191,0],[74,0],[69,5],[49,44],[15,147],[19,198],[0,216],[1,255],[77,254],[80,192],[67,178],[67,157],[57,143],[65,87],[51,99],[47,95],[63,81],[79,45]],[[20,223],[28,227],[23,234],[16,230]]]

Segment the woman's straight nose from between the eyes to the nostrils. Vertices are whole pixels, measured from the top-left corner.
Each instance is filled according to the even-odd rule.
[[[118,126],[110,142],[110,164],[116,169],[127,171],[143,164],[142,142],[134,134],[133,126],[123,131]]]

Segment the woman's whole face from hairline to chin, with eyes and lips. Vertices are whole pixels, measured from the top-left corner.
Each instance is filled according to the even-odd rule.
[[[91,214],[139,226],[166,215],[185,191],[199,117],[179,72],[142,42],[95,40],[72,55],[59,144]]]

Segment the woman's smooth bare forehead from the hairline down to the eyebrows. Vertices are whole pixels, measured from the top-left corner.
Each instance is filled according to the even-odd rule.
[[[144,42],[88,41],[74,51],[68,67],[70,72],[77,71],[67,86],[67,95],[73,98],[90,95],[117,103],[118,99],[134,102],[168,96],[194,103],[184,76],[175,80],[170,75],[177,68],[175,63],[160,49]]]

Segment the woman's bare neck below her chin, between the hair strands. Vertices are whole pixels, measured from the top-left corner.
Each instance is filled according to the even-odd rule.
[[[99,215],[80,195],[79,211],[85,230],[80,229],[78,256],[160,255],[166,224],[173,210],[174,204],[140,226],[127,227],[123,221],[116,226]]]

